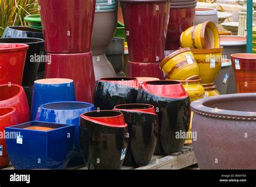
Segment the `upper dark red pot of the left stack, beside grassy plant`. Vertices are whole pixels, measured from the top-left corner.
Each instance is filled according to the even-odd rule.
[[[39,0],[45,51],[89,52],[95,3],[95,0]]]

